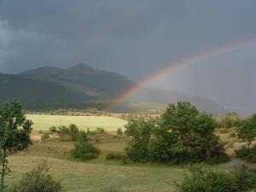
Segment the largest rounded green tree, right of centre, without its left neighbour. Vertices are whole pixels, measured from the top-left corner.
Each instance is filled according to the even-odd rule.
[[[189,102],[171,104],[154,131],[150,159],[174,164],[221,161],[219,157],[224,154],[224,145],[214,135],[215,127],[212,116],[200,113]]]

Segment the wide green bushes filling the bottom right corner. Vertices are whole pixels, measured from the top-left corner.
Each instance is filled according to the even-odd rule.
[[[238,162],[232,172],[214,172],[200,166],[190,168],[179,192],[246,192],[256,187],[256,170]]]

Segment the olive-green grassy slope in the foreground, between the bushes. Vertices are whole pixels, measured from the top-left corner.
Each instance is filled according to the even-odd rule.
[[[10,156],[12,172],[9,173],[7,181],[17,181],[22,173],[32,170],[46,157],[51,165],[51,174],[62,180],[68,192],[97,192],[114,180],[122,185],[125,192],[172,192],[174,182],[183,179],[184,168],[181,166],[135,163],[122,166],[121,161],[105,160],[108,151],[123,151],[125,143],[122,140],[109,140],[96,146],[102,150],[98,159],[79,162],[73,161],[68,154],[73,148],[72,142],[53,140],[35,143],[26,152]],[[229,169],[230,164],[220,165],[219,168]]]

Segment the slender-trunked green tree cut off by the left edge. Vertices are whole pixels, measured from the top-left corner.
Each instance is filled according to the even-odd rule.
[[[31,131],[32,121],[26,120],[19,102],[0,105],[1,191],[4,189],[4,176],[9,172],[8,154],[28,148],[32,144]]]

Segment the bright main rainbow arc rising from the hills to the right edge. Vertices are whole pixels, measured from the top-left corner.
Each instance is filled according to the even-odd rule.
[[[203,51],[201,53],[195,54],[195,55],[189,55],[189,57],[186,57],[182,60],[172,62],[168,67],[160,69],[160,71],[156,73],[152,73],[149,75],[146,79],[143,79],[140,83],[132,86],[129,90],[126,90],[122,95],[115,97],[112,101],[111,104],[108,105],[107,110],[111,110],[112,108],[116,107],[119,102],[122,102],[125,100],[125,98],[132,96],[139,90],[143,90],[143,88],[152,82],[154,82],[156,79],[160,79],[161,77],[165,76],[168,73],[173,72],[175,69],[180,68],[180,67],[185,67],[191,64],[194,64],[198,61],[203,61],[207,60],[211,57],[217,56],[217,55],[223,55],[227,52],[232,52],[233,50],[236,49],[242,49],[246,48],[247,46],[251,46],[256,44],[256,39],[249,39],[245,41],[236,41],[232,42],[230,44],[224,44],[221,46],[218,46],[214,49],[209,49],[206,51]]]

